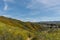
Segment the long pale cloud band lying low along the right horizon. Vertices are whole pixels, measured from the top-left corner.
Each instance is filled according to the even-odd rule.
[[[44,17],[36,17],[36,18],[27,18],[24,19],[24,21],[30,21],[30,22],[39,22],[39,21],[60,21],[60,17],[59,16],[54,16],[54,17],[48,17],[48,16],[44,16]]]

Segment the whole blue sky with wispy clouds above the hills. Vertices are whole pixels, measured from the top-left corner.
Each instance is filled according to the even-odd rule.
[[[0,15],[22,21],[60,21],[60,0],[0,0]]]

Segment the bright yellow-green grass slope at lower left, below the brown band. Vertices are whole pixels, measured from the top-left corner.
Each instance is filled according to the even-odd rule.
[[[34,33],[0,22],[0,40],[26,40],[29,35]]]

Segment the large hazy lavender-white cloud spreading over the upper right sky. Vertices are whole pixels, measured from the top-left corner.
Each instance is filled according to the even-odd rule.
[[[35,12],[45,11],[52,12],[52,14],[60,14],[60,0],[31,0],[27,8]],[[33,10],[35,9],[35,10]],[[40,12],[41,13],[41,12]],[[33,12],[32,12],[33,14]]]

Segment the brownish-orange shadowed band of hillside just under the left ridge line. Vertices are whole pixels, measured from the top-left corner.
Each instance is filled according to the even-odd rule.
[[[31,23],[31,22],[22,22],[20,20],[12,19],[12,18],[7,18],[4,16],[0,16],[0,22],[5,23],[6,25],[14,26],[14,27],[19,27],[25,30],[33,30],[33,31],[40,31],[42,27],[39,24],[36,23]]]

